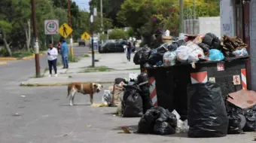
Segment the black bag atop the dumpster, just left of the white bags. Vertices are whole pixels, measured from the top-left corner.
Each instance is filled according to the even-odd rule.
[[[163,62],[163,54],[166,53],[166,51],[167,47],[164,47],[163,45],[157,47],[157,49],[152,50],[151,55],[149,56],[148,59],[148,63],[150,63],[151,65],[156,65],[157,62]]]

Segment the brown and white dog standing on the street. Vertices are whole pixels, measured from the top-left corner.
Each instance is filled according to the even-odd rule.
[[[93,104],[93,94],[99,93],[102,90],[103,86],[101,84],[95,83],[71,83],[68,86],[68,96],[69,105],[74,105],[75,93],[89,94],[90,95],[90,104]]]

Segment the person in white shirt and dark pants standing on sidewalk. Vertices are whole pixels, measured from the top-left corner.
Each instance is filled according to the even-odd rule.
[[[53,47],[53,44],[49,44],[49,49],[47,50],[47,59],[48,59],[48,65],[49,65],[49,71],[50,76],[52,76],[52,69],[54,69],[55,77],[57,76],[57,56],[58,56],[58,50]]]

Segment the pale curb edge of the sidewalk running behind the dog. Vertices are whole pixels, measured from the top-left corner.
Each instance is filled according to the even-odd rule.
[[[69,83],[56,83],[56,84],[20,84],[20,87],[56,87],[56,86],[66,86],[71,84],[72,82]],[[101,82],[86,82],[86,83],[97,83],[97,84],[112,84],[114,81],[101,81]]]

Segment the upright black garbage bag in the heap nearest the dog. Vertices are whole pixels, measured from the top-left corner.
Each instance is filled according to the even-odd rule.
[[[123,117],[142,117],[143,105],[140,93],[142,91],[136,84],[126,85],[124,87],[122,111]]]

